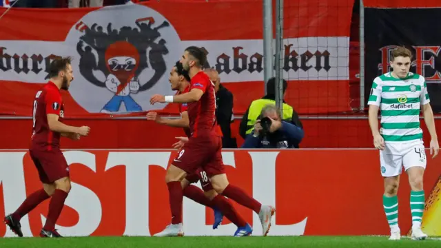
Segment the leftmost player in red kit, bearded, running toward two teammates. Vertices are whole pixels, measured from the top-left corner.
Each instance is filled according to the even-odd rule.
[[[40,236],[61,237],[55,230],[55,223],[70,192],[70,176],[68,163],[60,149],[60,137],[79,140],[80,136],[88,136],[90,131],[87,126],[63,124],[64,107],[60,90],[68,90],[70,82],[74,80],[71,61],[70,57],[54,59],[50,63],[50,81],[35,95],[29,153],[43,188],[30,194],[14,213],[4,219],[6,225],[19,237],[23,237],[20,219],[48,198],[51,198],[48,218]]]

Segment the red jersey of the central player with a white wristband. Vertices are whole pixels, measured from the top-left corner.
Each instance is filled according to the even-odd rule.
[[[199,89],[204,93],[199,101],[188,103],[187,112],[192,136],[218,134],[216,123],[216,92],[214,84],[204,72],[198,72],[190,82],[189,90]]]

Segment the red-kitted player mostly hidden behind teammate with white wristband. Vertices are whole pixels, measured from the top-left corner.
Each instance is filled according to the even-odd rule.
[[[172,90],[178,90],[179,94],[183,94],[189,92],[190,86],[190,78],[188,76],[188,72],[183,70],[183,65],[181,62],[176,62],[176,65],[172,68],[170,72],[169,79]],[[179,105],[181,112],[181,119],[167,119],[161,118],[158,116],[156,112],[148,112],[147,120],[156,121],[156,123],[160,123],[163,125],[170,125],[172,127],[183,127],[185,134],[187,136],[191,136],[189,132],[189,120],[187,114],[187,104],[183,103]],[[174,143],[173,147],[176,149],[181,149],[183,144],[188,141],[187,137],[177,137],[179,139],[178,142]],[[187,198],[194,200],[196,203],[200,203],[201,205],[205,205],[208,207],[212,207],[214,209],[214,225],[213,229],[216,229],[218,225],[221,223],[223,219],[222,212],[225,212],[225,216],[229,220],[232,220],[237,227],[245,227],[247,223],[245,220],[238,215],[236,209],[229,203],[229,201],[223,196],[218,196],[216,191],[213,189],[211,183],[209,182],[207,176],[204,176],[205,172],[203,169],[198,169],[194,174],[188,174],[182,181],[181,186],[183,187],[183,195]],[[198,180],[201,182],[203,191],[194,185],[190,185],[190,183],[197,183]],[[213,200],[216,198],[216,200]],[[216,204],[219,206],[216,207]],[[222,210],[222,212],[218,211],[218,209]],[[179,229],[171,228],[172,226],[167,226],[163,231],[158,234],[155,234],[156,237],[162,236],[179,236],[183,235],[179,233]],[[245,233],[240,233],[245,234]]]

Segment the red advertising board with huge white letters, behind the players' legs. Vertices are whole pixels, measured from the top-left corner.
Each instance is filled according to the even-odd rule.
[[[170,224],[164,178],[174,151],[70,150],[64,154],[70,165],[72,190],[57,222],[61,234],[151,236]],[[427,157],[427,208],[422,227],[427,234],[440,236],[441,167],[438,159]],[[270,236],[389,234],[377,150],[225,150],[223,161],[230,183],[276,207]],[[27,151],[0,152],[0,186],[1,219],[17,209],[26,195],[41,189]],[[409,196],[409,183],[402,178],[398,199],[403,234],[411,227]],[[21,219],[25,236],[38,236],[48,202]],[[236,203],[234,206],[254,228],[253,235],[261,235],[258,216]],[[211,209],[184,199],[187,236],[232,236],[236,230],[227,219],[216,230],[212,222]],[[12,235],[0,225],[0,236]]]

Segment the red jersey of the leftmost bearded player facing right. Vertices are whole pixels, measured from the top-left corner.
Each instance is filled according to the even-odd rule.
[[[59,121],[63,122],[64,105],[61,93],[57,85],[52,82],[46,83],[35,95],[31,149],[52,150],[60,147],[61,134],[49,130],[47,114],[57,114]]]

